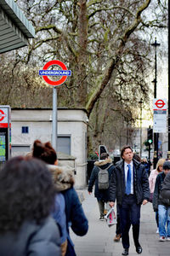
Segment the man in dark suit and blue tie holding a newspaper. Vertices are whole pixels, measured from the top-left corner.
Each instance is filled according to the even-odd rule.
[[[120,210],[122,230],[122,255],[128,255],[129,230],[133,225],[133,241],[137,253],[142,253],[139,244],[140,207],[145,205],[150,198],[150,189],[147,173],[144,166],[133,159],[133,150],[130,146],[124,146],[121,150],[122,160],[119,161],[111,176],[110,206],[117,202]]]

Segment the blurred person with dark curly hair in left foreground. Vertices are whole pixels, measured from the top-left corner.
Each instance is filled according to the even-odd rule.
[[[40,160],[14,157],[0,172],[0,255],[61,256],[51,218],[56,189]]]

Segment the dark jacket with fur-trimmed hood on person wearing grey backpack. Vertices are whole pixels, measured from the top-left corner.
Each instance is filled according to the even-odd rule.
[[[109,173],[109,180],[111,180],[111,174],[114,170],[114,166],[111,165],[112,160],[111,159],[106,159],[104,161],[96,161],[94,163],[94,169],[92,171],[92,174],[90,176],[89,182],[88,182],[88,192],[93,191],[93,186],[95,183],[95,190],[94,190],[94,196],[98,200],[104,200],[105,202],[109,201],[109,189],[99,189],[98,185],[98,173],[99,173],[99,167],[101,169],[105,169],[108,166],[111,166],[108,168],[108,173]]]

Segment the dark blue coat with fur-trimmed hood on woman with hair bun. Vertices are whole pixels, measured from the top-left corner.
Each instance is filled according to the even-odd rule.
[[[48,166],[54,177],[56,189],[65,197],[65,216],[67,229],[67,251],[65,256],[75,256],[74,244],[71,241],[69,228],[77,235],[84,236],[88,232],[88,219],[86,218],[82,204],[79,201],[76,190],[73,188],[74,177],[72,171],[66,171],[58,166]]]

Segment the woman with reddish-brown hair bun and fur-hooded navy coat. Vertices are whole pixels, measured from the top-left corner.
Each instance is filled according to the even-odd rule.
[[[32,155],[46,162],[53,176],[55,188],[64,195],[67,243],[66,247],[64,243],[63,253],[65,256],[76,256],[74,244],[71,241],[70,227],[77,236],[85,236],[88,232],[88,219],[83,212],[77,191],[73,187],[74,174],[71,170],[63,170],[56,166],[57,154],[49,142],[42,143],[36,140],[33,144]]]

